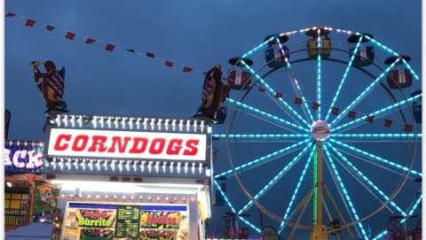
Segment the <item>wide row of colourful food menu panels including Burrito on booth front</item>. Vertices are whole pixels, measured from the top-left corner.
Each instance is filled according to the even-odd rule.
[[[186,205],[68,203],[61,240],[188,240]]]

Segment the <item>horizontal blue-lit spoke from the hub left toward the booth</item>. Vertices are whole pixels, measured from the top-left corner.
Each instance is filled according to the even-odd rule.
[[[264,141],[276,142],[280,140],[300,140],[305,139],[307,134],[232,134],[232,135],[212,135],[213,140],[217,141],[233,141],[233,142],[248,142],[248,141]]]

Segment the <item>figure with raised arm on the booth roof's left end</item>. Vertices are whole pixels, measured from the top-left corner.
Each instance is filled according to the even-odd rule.
[[[34,80],[36,81],[37,88],[43,93],[44,101],[46,102],[46,114],[55,112],[68,112],[67,104],[65,103],[64,90],[65,90],[65,68],[62,67],[60,71],[56,69],[55,64],[51,60],[44,62],[46,73],[42,73],[38,66],[39,62],[32,61],[29,64],[34,70]]]

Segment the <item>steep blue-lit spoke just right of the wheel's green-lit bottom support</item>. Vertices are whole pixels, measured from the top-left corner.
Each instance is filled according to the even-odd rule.
[[[335,182],[335,184],[336,184],[336,187],[337,187],[337,190],[339,190],[339,193],[343,193],[343,196],[341,196],[341,197],[344,197],[343,198],[343,202],[347,202],[348,203],[348,205],[349,205],[349,208],[350,208],[350,210],[351,210],[351,213],[352,213],[352,216],[353,216],[353,218],[355,219],[355,221],[359,221],[359,216],[358,216],[358,213],[357,213],[357,211],[355,210],[355,206],[352,204],[352,200],[351,200],[351,197],[349,196],[349,192],[346,190],[346,188],[344,187],[344,183],[343,183],[343,180],[342,180],[342,178],[340,177],[340,174],[339,174],[339,172],[337,171],[337,168],[335,168],[335,163],[333,162],[333,159],[330,157],[330,154],[329,154],[329,152],[327,151],[327,145],[324,145],[324,150],[325,150],[325,152],[326,152],[326,156],[327,156],[327,158],[326,158],[326,165],[327,165],[327,167],[328,167],[328,170],[330,171],[330,174],[331,174],[331,176],[332,176],[332,178],[334,179],[334,180],[336,180],[339,184],[337,185],[337,182]],[[331,168],[329,167],[329,165],[331,166]],[[332,170],[333,170],[333,172],[332,172]],[[334,174],[333,174],[334,173]],[[340,187],[339,187],[340,186]],[[346,201],[345,201],[346,200]],[[362,223],[359,221],[358,223],[357,223],[357,226],[359,227],[359,230],[361,231],[361,234],[362,234],[362,236],[364,236],[364,238],[366,239],[366,240],[368,240],[368,236],[367,236],[367,232],[366,232],[366,230],[364,229],[364,227],[362,226]]]

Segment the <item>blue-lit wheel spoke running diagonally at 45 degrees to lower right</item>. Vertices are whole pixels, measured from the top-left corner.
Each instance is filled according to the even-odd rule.
[[[361,171],[359,171],[359,169],[356,166],[353,166],[353,164],[351,163],[351,161],[349,159],[347,159],[346,157],[343,156],[342,152],[336,150],[335,147],[333,145],[331,145],[330,143],[327,143],[327,146],[329,146],[331,148],[331,150],[334,151],[337,154],[337,156],[340,157],[340,159],[345,163],[345,165],[350,166],[351,169],[352,169],[352,171],[355,172],[359,176],[359,178],[357,178],[357,181],[360,180],[362,182],[367,183],[371,188],[373,188],[373,190],[375,190],[376,193],[378,193],[381,197],[383,197],[384,201],[390,201],[389,202],[390,206],[392,206],[394,208],[394,210],[396,210],[398,213],[400,213],[401,215],[403,215],[404,217],[406,217],[406,213],[397,204],[395,204],[395,202],[391,201],[390,197],[388,197],[383,192],[383,190],[381,190],[379,187],[377,187],[374,182],[372,182],[371,180],[369,180],[365,174],[363,174]],[[329,155],[329,153],[328,153],[328,155]],[[343,168],[345,168],[345,167],[343,166]],[[349,169],[347,169],[347,171],[349,173],[351,173],[349,171]],[[379,201],[380,201],[380,199],[379,199]]]

